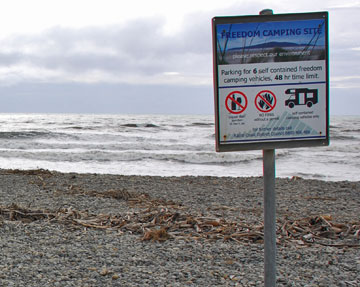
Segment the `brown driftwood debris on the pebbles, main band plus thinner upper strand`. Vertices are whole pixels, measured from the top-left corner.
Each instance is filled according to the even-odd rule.
[[[32,183],[40,188],[56,185],[55,182],[51,182],[53,173],[46,170],[8,170],[7,172],[33,175],[35,179]],[[0,206],[0,219],[24,223],[48,221],[75,228],[114,230],[119,234],[137,234],[144,241],[182,239],[261,243],[264,240],[263,223],[250,225],[244,222],[227,221],[223,217],[204,216],[200,212],[189,210],[171,200],[153,199],[146,193],[130,192],[124,188],[102,192],[85,190],[81,186],[71,184],[62,188],[64,189],[57,189],[55,193],[122,200],[130,207],[136,207],[136,211],[109,215],[92,214],[71,207],[51,211],[12,204]],[[333,200],[333,198],[320,197],[308,199]],[[229,206],[216,208],[217,211],[233,209]],[[277,226],[279,244],[292,242],[300,245],[360,247],[360,222],[338,223],[334,222],[330,215],[318,215],[300,219],[278,219]]]

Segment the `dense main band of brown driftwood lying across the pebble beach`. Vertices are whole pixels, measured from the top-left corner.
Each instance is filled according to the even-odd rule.
[[[0,206],[3,220],[32,221],[45,220],[74,227],[115,230],[132,233],[142,240],[165,241],[224,240],[235,242],[263,242],[263,225],[250,226],[245,223],[228,222],[223,218],[209,218],[182,211],[181,207],[149,202],[140,212],[123,215],[91,214],[73,208],[57,211],[31,210],[15,204]],[[295,242],[301,245],[321,244],[336,247],[360,247],[360,223],[335,223],[329,215],[307,217],[280,223],[277,232],[278,243]],[[351,240],[351,243],[349,242]]]

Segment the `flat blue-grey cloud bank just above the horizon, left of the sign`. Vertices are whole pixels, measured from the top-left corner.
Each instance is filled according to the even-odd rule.
[[[156,85],[24,83],[0,86],[0,112],[211,114],[211,92],[203,86],[173,86],[170,93]]]

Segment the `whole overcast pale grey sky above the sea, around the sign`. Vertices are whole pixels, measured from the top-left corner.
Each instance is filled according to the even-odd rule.
[[[330,112],[359,115],[352,0],[2,0],[0,112],[212,114],[211,18],[264,8],[329,12]]]

